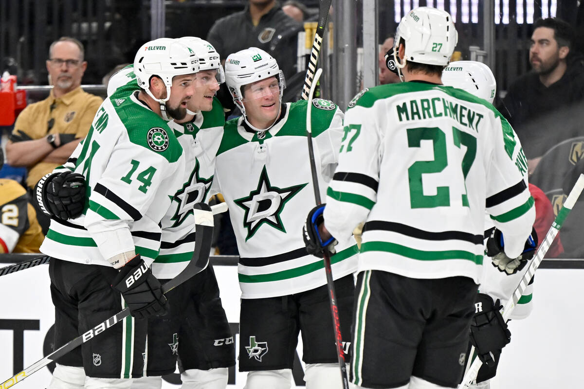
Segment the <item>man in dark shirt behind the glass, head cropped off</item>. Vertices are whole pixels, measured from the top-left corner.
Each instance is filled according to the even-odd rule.
[[[297,36],[302,29],[276,0],[249,0],[244,10],[218,19],[207,40],[221,58],[244,48],[261,48],[276,58],[289,79],[297,72]]]

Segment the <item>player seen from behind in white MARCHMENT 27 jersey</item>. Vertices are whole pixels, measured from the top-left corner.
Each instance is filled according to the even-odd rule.
[[[363,90],[345,115],[320,229],[346,239],[364,222],[350,374],[357,388],[460,383],[485,204],[505,236],[501,264],[512,270],[533,255],[533,198],[510,153],[512,129],[491,104],[441,86],[456,43],[447,12],[411,10],[395,39],[405,82]]]

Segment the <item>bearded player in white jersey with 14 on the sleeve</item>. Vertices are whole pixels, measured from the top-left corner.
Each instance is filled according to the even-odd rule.
[[[198,59],[161,38],[138,50],[141,89],[120,89],[100,107],[88,136],[55,173],[82,174],[84,215],[51,220],[41,252],[51,256],[55,345],[61,346],[124,307],[131,316],[57,360],[51,389],[130,388],[142,375],[145,318],[168,309],[150,264],[160,248],[159,223],[182,185],[182,148],[163,116],[182,118],[193,95]],[[69,168],[69,169],[68,169]],[[72,172],[70,171],[72,170]],[[50,174],[37,186],[40,202]],[[130,278],[135,274],[140,277]],[[132,282],[133,281],[133,282]]]

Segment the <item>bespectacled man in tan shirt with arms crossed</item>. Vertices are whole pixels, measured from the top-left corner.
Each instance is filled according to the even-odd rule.
[[[31,194],[37,181],[64,164],[85,138],[102,102],[100,97],[81,89],[86,68],[81,42],[70,37],[54,41],[47,59],[53,90],[46,99],[30,104],[16,118],[6,144],[6,157],[12,166],[27,167],[26,185]],[[37,207],[36,201],[33,204],[46,234],[49,219]]]

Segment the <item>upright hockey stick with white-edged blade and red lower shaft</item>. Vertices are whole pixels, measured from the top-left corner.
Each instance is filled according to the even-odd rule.
[[[314,48],[313,48],[314,49]],[[317,205],[321,205],[321,193],[318,188],[317,164],[314,160],[314,148],[312,147],[312,125],[311,125],[311,106],[314,89],[317,86],[318,79],[322,74],[322,69],[318,68],[314,75],[314,83],[310,87],[308,94],[308,103],[306,107],[306,132],[308,139],[308,157],[310,159],[310,172],[312,174],[312,187],[314,188],[314,199]],[[328,253],[323,255],[325,261],[326,286],[329,292],[329,303],[331,303],[332,325],[335,330],[335,344],[337,357],[339,360],[340,377],[343,381],[343,389],[349,389],[349,380],[347,379],[347,366],[345,365],[345,352],[343,351],[343,338],[340,334],[339,308],[336,304],[335,282],[332,279],[331,257]]]

